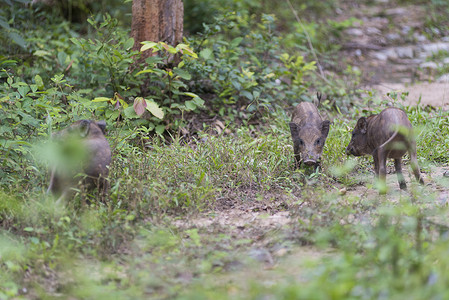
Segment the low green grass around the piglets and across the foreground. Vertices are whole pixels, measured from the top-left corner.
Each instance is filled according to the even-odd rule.
[[[416,127],[423,169],[447,165],[443,111],[405,109]],[[434,186],[447,187],[447,182],[430,187],[413,182],[409,193],[393,188],[391,199],[378,198],[369,188],[372,159],[344,155],[355,120],[342,116],[333,118],[322,173],[293,171],[287,121],[279,112],[258,130],[200,133],[188,143],[175,138],[168,145],[154,139],[145,148],[120,144],[106,204],[80,204],[76,196],[58,205],[43,193],[45,186],[2,191],[0,297],[444,295],[447,212],[438,205]],[[351,194],[360,184],[368,187],[368,196]],[[246,220],[238,229],[237,216],[220,225],[229,203],[254,214],[255,221]],[[266,207],[271,211],[263,213]],[[284,226],[257,223],[284,210],[290,220]],[[297,261],[293,254],[304,245],[326,258]],[[286,249],[287,254],[274,257],[273,269],[259,272],[264,263],[251,258],[254,248]]]

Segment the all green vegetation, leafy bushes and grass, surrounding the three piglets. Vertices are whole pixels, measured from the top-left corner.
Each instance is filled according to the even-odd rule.
[[[390,95],[415,128],[428,185],[406,178],[408,191],[379,196],[372,159],[344,150],[357,118],[390,103],[332,62],[356,19],[299,24],[288,2],[186,1],[207,18],[186,17],[201,33],[147,42],[160,55],[135,66],[120,18],[129,1],[85,24],[25,2],[0,12],[1,299],[447,297],[447,114]],[[339,5],[292,3],[318,17]],[[290,111],[312,90],[326,94],[330,133],[321,168],[294,170]],[[58,202],[37,149],[82,118],[107,121],[109,194]]]

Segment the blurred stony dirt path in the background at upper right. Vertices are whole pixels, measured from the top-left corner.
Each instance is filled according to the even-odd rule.
[[[449,106],[449,36],[429,40],[426,28],[428,11],[419,5],[394,7],[392,1],[376,1],[375,6],[352,4],[339,18],[356,17],[346,30],[344,46],[362,72],[368,88],[384,98],[387,93],[408,92],[412,105]]]

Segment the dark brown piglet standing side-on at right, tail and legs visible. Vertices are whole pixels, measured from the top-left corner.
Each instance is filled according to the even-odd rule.
[[[347,155],[372,155],[374,172],[385,187],[386,161],[394,159],[399,187],[405,189],[402,175],[402,156],[408,151],[410,164],[419,183],[424,184],[416,158],[416,143],[413,128],[407,114],[395,107],[384,109],[378,115],[362,117],[352,131],[352,139],[346,148]]]

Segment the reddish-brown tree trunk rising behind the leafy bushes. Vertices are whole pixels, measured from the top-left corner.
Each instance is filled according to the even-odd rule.
[[[143,41],[165,42],[172,46],[182,41],[184,5],[182,0],[133,0],[131,37],[134,50]],[[145,59],[151,51],[142,53]]]

